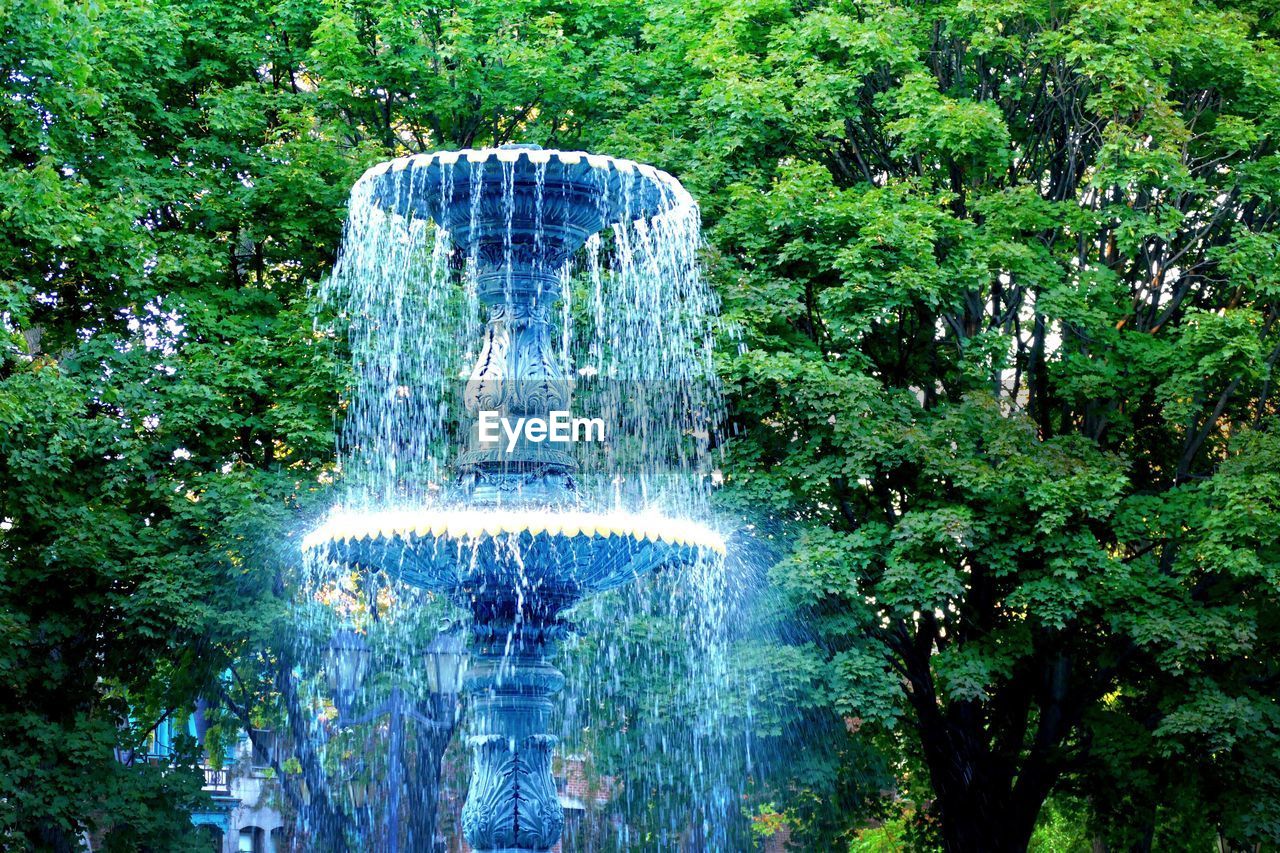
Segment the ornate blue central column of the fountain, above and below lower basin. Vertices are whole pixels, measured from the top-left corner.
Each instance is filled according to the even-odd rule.
[[[477,291],[489,319],[467,382],[472,426],[456,466],[456,488],[468,506],[573,507],[577,462],[567,448],[524,438],[508,447],[506,433],[497,443],[481,441],[479,433],[481,412],[515,423],[570,406],[552,325],[558,282],[544,272],[547,259],[536,251],[540,234],[524,237],[515,246],[506,242],[500,255],[497,246],[481,254]],[[566,630],[558,613],[576,596],[529,583],[517,562],[511,561],[507,574],[520,580],[485,589],[470,602],[474,663],[463,689],[472,771],[462,831],[476,850],[549,850],[564,826],[552,775],[557,738],[548,731],[552,697],[564,676],[548,658]]]

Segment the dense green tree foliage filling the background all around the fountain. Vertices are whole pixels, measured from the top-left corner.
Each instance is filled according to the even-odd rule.
[[[232,665],[288,703],[347,187],[511,140],[703,204],[746,343],[723,506],[786,552],[744,716],[820,733],[756,822],[1021,849],[1052,795],[1098,843],[1280,841],[1271,4],[4,0],[0,33],[6,847],[189,844],[193,774],[115,749]]]

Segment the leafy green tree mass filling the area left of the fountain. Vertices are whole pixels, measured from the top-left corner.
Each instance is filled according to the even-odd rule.
[[[0,833],[188,849],[200,776],[122,763],[270,603],[330,465],[306,284],[353,167],[234,4],[0,18]],[[216,24],[216,26],[215,26]],[[268,223],[273,224],[268,231]],[[289,388],[287,398],[273,393]]]

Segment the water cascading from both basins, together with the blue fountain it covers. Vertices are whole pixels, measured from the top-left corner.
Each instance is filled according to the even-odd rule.
[[[705,800],[733,798],[733,771],[699,747],[723,734],[717,690],[731,602],[724,543],[703,524],[721,400],[716,300],[698,251],[687,192],[626,160],[536,146],[420,155],[371,169],[352,192],[342,255],[321,292],[335,318],[329,332],[351,350],[344,500],[305,543],[300,670],[319,670],[329,638],[346,631],[378,649],[376,689],[394,683],[397,697],[426,695],[412,649],[442,617],[466,622],[472,771],[461,822],[472,849],[557,843],[556,735],[589,751],[593,738],[581,733],[590,721],[620,736],[634,725],[621,713],[611,720],[609,708],[612,695],[645,701],[631,694],[646,671],[637,612],[680,620],[687,649],[676,669],[695,708],[655,745],[684,749],[673,762],[681,768],[654,754],[668,768],[652,777],[663,784],[666,774],[675,789],[682,774],[678,788],[699,798],[645,830],[646,843],[713,835]],[[554,412],[581,419],[582,430],[553,442],[509,429]],[[506,426],[486,432],[486,421]],[[596,593],[608,594],[589,598]],[[611,606],[627,610],[611,619],[602,610]],[[591,631],[573,638],[575,620]],[[571,652],[590,653],[566,654],[566,639]],[[653,651],[644,662],[662,660]],[[571,671],[563,693],[553,663]],[[307,735],[315,763],[332,770],[308,780],[323,788],[312,797],[355,816],[340,827],[348,841],[433,849],[402,826],[408,811],[434,808],[406,795],[422,784],[397,768],[393,753],[411,752],[404,731],[393,725],[384,758],[352,761],[335,731],[361,702],[334,697],[337,711],[324,711],[320,679],[300,681],[321,708]],[[410,716],[425,730],[443,725]],[[390,790],[370,798],[379,775]],[[636,841],[623,830],[614,844]]]

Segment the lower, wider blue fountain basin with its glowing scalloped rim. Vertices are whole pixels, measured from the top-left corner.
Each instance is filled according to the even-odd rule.
[[[668,564],[724,553],[700,524],[536,510],[338,512],[303,540],[323,558],[447,594],[536,592],[559,605]]]

